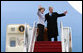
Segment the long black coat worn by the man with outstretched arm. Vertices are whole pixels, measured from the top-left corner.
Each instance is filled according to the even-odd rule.
[[[58,14],[57,12],[53,12],[52,16],[49,13],[45,14],[45,21],[47,21],[47,32],[48,35],[57,36],[58,35],[58,27],[57,27],[57,18],[65,16],[64,13]]]

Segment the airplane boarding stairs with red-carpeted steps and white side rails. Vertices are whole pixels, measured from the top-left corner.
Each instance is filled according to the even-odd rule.
[[[61,25],[61,41],[36,41],[37,26],[36,22],[34,22],[32,36],[31,37],[28,36],[29,38],[28,41],[25,41],[25,46],[28,46],[27,48],[25,48],[25,51],[26,52],[72,52],[71,28],[63,27],[62,22],[60,25]]]

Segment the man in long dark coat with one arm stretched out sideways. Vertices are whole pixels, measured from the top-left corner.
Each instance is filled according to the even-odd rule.
[[[45,15],[45,21],[47,21],[47,33],[48,41],[51,41],[51,38],[54,38],[54,41],[57,41],[58,36],[58,27],[57,27],[57,18],[65,16],[67,11],[62,14],[53,12],[53,7],[49,7],[49,13]]]

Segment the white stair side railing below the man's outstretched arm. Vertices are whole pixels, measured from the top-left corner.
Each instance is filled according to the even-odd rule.
[[[72,52],[72,37],[71,37],[71,28],[63,27],[62,22],[61,25],[61,44],[62,44],[62,52]]]

